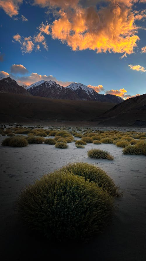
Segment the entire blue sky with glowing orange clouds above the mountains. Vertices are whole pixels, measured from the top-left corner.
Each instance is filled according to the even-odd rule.
[[[0,77],[146,93],[146,0],[0,0]]]

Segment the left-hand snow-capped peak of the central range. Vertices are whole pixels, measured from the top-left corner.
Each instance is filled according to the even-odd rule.
[[[55,81],[41,80],[35,82],[26,88],[34,96],[48,97],[52,99],[64,99],[64,100],[80,100],[78,95],[69,89],[61,86]]]

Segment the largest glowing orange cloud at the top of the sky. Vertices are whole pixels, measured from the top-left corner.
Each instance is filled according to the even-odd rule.
[[[84,4],[86,2],[86,4]],[[101,4],[105,2],[102,6]],[[72,50],[95,50],[97,53],[134,52],[138,27],[132,12],[132,0],[79,1],[35,0],[34,4],[58,6],[60,18],[52,24],[43,23],[40,31],[66,43]],[[100,4],[97,9],[96,4]]]

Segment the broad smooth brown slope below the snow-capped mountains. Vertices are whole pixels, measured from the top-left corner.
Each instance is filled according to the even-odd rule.
[[[70,101],[18,94],[0,95],[0,120],[96,120],[115,104],[93,101]]]

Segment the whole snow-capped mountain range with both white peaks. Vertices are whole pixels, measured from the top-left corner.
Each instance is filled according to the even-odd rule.
[[[27,87],[26,90],[34,96],[48,97],[52,99],[86,100],[112,103],[120,103],[124,101],[119,96],[99,94],[92,88],[76,82],[72,82],[69,86],[63,87],[55,81],[41,80],[33,83]]]

